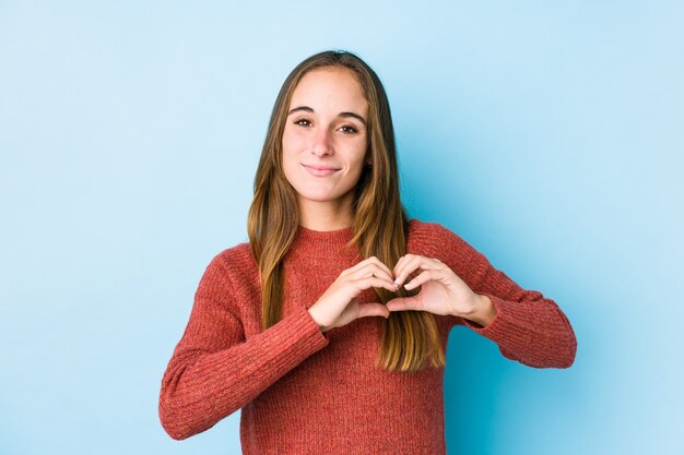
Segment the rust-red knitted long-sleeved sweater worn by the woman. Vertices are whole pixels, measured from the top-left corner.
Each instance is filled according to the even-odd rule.
[[[203,432],[241,409],[245,455],[446,454],[444,368],[413,373],[377,368],[385,318],[321,332],[307,311],[359,261],[353,251],[340,251],[352,234],[351,227],[298,228],[284,259],[283,316],[263,332],[249,244],[212,259],[162,380],[158,412],[173,439]],[[439,259],[496,306],[485,327],[435,315],[443,349],[451,327],[464,325],[496,343],[508,359],[534,368],[573,364],[575,334],[553,300],[520,288],[439,224],[412,219],[406,249]],[[358,300],[378,298],[367,289]]]

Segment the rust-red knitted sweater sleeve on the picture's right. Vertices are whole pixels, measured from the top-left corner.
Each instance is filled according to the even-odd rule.
[[[540,291],[518,286],[503,271],[458,235],[447,232],[453,252],[449,265],[471,289],[485,295],[496,307],[486,326],[462,323],[498,345],[502,355],[534,368],[569,368],[577,352],[575,332],[564,312]]]

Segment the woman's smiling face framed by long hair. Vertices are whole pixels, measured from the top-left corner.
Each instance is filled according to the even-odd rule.
[[[283,170],[299,207],[351,204],[365,163],[368,101],[352,70],[316,69],[297,84],[283,132]]]

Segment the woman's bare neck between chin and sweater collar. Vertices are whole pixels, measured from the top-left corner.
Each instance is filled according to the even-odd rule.
[[[353,193],[335,201],[310,201],[299,199],[299,225],[307,229],[327,231],[352,226]]]

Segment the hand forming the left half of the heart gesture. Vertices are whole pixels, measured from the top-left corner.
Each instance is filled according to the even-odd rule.
[[[370,256],[343,271],[316,303],[309,313],[321,332],[341,327],[365,316],[389,318],[390,312],[382,303],[359,303],[356,297],[365,289],[376,287],[396,292],[399,288],[389,267],[376,256]]]

